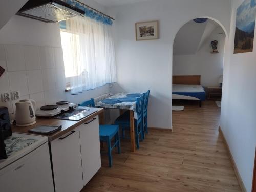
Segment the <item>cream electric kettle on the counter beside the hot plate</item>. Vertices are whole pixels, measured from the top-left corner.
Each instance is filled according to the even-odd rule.
[[[33,99],[24,99],[15,103],[16,105],[16,125],[30,126],[36,123],[35,108]]]

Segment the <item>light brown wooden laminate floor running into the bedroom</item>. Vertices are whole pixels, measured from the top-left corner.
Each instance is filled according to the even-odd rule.
[[[150,129],[135,153],[122,141],[113,167],[102,154],[102,168],[82,191],[241,191],[218,132],[220,108],[182,104],[184,111],[173,111],[174,132]]]

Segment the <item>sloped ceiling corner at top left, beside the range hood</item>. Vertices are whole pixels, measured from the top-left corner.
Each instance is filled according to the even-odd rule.
[[[0,1],[0,29],[22,8],[28,0]]]

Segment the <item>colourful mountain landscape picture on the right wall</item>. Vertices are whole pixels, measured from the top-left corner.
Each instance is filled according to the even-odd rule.
[[[253,51],[256,2],[245,0],[237,9],[234,54]]]

